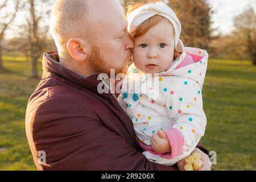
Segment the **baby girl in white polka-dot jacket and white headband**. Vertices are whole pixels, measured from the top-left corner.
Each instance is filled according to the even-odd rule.
[[[179,19],[165,3],[133,5],[128,12],[134,64],[118,101],[146,158],[173,165],[191,154],[205,132],[201,90],[208,53],[183,46]]]

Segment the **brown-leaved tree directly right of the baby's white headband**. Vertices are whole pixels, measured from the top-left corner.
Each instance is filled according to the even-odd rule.
[[[210,42],[210,7],[205,0],[170,0],[172,9],[178,11],[181,22],[181,39],[185,46],[209,48]]]

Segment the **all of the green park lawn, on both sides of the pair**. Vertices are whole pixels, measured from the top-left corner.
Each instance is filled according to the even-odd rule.
[[[29,77],[31,66],[24,60],[4,57],[9,71],[0,74],[0,170],[36,170],[24,116],[39,79]],[[256,67],[249,61],[209,60],[203,96],[208,125],[201,142],[217,152],[213,169],[255,170]]]

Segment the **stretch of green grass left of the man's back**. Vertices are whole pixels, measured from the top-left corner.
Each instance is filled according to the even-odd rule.
[[[26,60],[23,58],[23,60]],[[4,57],[0,73],[0,170],[36,170],[27,143],[24,117],[30,94],[39,79],[30,78],[31,65]],[[42,75],[42,65],[38,65]]]

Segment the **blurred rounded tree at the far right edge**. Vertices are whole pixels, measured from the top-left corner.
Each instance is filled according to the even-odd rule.
[[[256,14],[252,7],[234,19],[234,35],[256,65]]]

